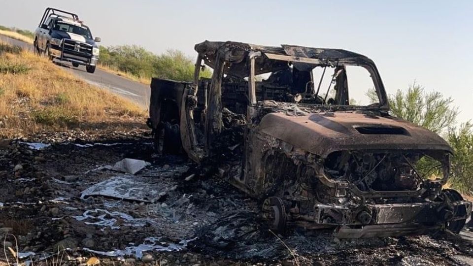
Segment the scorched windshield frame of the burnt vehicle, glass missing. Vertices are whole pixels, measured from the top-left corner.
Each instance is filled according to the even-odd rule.
[[[256,106],[256,79],[255,79],[255,60],[257,57],[265,56],[269,60],[274,61],[284,61],[288,63],[304,63],[316,66],[361,66],[365,68],[371,76],[374,90],[376,91],[376,95],[378,96],[379,102],[374,103],[371,105],[338,105],[338,104],[310,104],[314,107],[321,107],[321,108],[330,108],[330,109],[379,109],[379,110],[389,110],[389,102],[386,95],[386,91],[384,89],[384,85],[381,81],[381,77],[379,76],[378,70],[374,63],[369,60],[366,63],[359,62],[357,60],[353,60],[352,58],[340,58],[337,60],[334,59],[319,59],[319,58],[307,58],[307,57],[295,57],[289,55],[279,55],[279,54],[271,54],[271,53],[264,53],[264,52],[257,52],[257,51],[250,51],[248,53],[248,62],[250,65],[250,75],[248,76],[248,98],[250,100],[250,105]],[[261,73],[258,73],[261,74]]]

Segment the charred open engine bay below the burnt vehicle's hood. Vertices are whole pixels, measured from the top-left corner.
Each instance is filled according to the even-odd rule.
[[[416,152],[339,151],[332,153],[324,166],[332,179],[351,182],[361,191],[413,191],[422,183],[415,165],[423,156]]]

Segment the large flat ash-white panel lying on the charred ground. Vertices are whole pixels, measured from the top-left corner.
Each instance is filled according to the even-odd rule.
[[[167,188],[160,188],[158,184],[143,183],[126,176],[115,176],[84,190],[80,198],[104,196],[153,203],[166,194]]]

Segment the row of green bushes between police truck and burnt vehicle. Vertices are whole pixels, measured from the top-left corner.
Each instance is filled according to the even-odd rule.
[[[190,81],[194,77],[194,61],[178,50],[156,55],[136,45],[101,46],[99,62],[140,78]],[[211,71],[203,71],[202,76],[210,77]]]

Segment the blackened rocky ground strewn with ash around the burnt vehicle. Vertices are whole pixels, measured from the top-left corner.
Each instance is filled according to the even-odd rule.
[[[150,164],[135,174],[112,169],[124,158]],[[276,236],[254,200],[203,172],[183,157],[153,154],[142,130],[0,141],[0,265],[15,254],[26,265],[472,265],[468,230]]]

